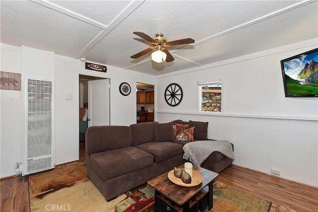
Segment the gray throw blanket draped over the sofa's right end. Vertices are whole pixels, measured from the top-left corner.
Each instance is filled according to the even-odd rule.
[[[214,151],[218,151],[224,156],[234,160],[232,144],[229,141],[188,142],[183,146],[183,151],[183,158],[197,166],[201,166],[205,159]]]

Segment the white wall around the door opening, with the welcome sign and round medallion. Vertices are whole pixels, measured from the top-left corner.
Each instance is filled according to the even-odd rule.
[[[136,123],[136,82],[155,84],[155,77],[136,71],[107,66],[107,72],[85,70],[85,63],[72,58],[56,56],[56,164],[79,158],[79,74],[110,79],[110,125]],[[128,82],[132,92],[123,96],[119,85]],[[84,89],[84,88],[83,88]],[[65,100],[65,93],[73,100]]]

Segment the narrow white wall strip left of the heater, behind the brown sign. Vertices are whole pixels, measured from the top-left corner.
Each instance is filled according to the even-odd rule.
[[[0,47],[0,71],[22,73],[21,48]],[[0,176],[4,177],[14,174],[15,163],[22,161],[22,91],[0,90],[0,97]]]

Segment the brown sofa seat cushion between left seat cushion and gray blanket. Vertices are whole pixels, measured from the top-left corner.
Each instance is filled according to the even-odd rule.
[[[154,156],[154,162],[160,163],[178,154],[183,154],[183,145],[175,142],[148,142],[137,145],[136,147],[151,153]]]

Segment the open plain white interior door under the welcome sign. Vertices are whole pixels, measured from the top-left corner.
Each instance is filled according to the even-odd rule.
[[[88,81],[88,127],[109,125],[109,79]]]

